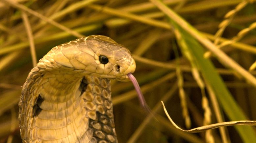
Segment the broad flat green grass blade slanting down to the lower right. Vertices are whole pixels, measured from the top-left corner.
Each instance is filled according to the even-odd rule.
[[[193,55],[195,64],[198,66],[204,79],[213,88],[218,98],[218,101],[221,104],[221,107],[223,108],[224,112],[229,117],[229,119],[232,121],[246,120],[246,116],[244,115],[242,109],[236,103],[235,99],[232,97],[232,95],[226,88],[222,78],[216,71],[216,68],[214,67],[212,62],[209,59],[205,59],[203,57],[203,54],[205,52],[203,47],[194,39],[192,35],[184,31],[179,25],[177,25],[173,21],[171,23],[175,27],[175,29],[177,29],[180,32],[181,37],[184,39],[186,46],[189,47],[191,55]],[[243,139],[243,142],[256,142],[256,134],[253,131],[252,127],[235,126],[235,128],[240,134],[241,138]]]

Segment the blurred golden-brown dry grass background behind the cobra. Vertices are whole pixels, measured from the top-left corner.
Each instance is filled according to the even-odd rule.
[[[18,101],[33,64],[59,44],[95,34],[109,36],[133,53],[137,64],[134,75],[149,107],[157,113],[152,117],[141,108],[131,82],[112,81],[115,129],[120,143],[256,142],[255,126],[185,133],[169,122],[161,100],[182,129],[231,121],[232,116],[256,120],[255,86],[236,69],[221,64],[225,58],[217,59],[211,54],[200,60],[202,54],[195,55],[190,49],[200,51],[198,45],[202,53],[207,49],[190,43],[186,38],[194,37],[179,28],[182,25],[170,22],[173,19],[152,2],[0,0],[0,143],[21,142]],[[252,66],[248,74],[255,75],[254,0],[162,2],[215,45],[231,41],[221,50],[245,70]],[[204,60],[213,66],[200,66]],[[217,77],[223,81],[215,82]]]

